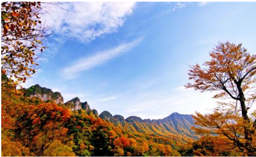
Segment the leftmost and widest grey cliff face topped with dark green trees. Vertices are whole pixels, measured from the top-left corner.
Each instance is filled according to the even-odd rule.
[[[44,102],[53,101],[57,104],[63,104],[63,97],[59,92],[53,92],[51,89],[41,87],[39,84],[26,89],[24,95],[30,98],[38,97]]]

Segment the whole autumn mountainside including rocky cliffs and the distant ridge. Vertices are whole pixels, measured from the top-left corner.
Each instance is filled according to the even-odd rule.
[[[77,97],[57,104],[61,94],[49,99],[53,92],[46,89],[35,85],[19,96],[2,93],[9,100],[2,102],[2,155],[179,156],[178,148],[196,137],[187,126],[193,125],[190,115],[145,122],[104,111],[100,118]]]

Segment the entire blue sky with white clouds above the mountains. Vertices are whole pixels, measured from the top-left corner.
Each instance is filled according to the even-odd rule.
[[[255,2],[67,3],[44,15],[55,33],[40,69],[23,86],[40,84],[91,108],[124,117],[208,113],[212,93],[183,86],[189,65],[209,60],[218,42],[256,53]]]

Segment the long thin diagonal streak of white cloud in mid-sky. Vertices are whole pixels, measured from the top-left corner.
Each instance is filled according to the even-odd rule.
[[[140,41],[141,38],[129,43],[120,44],[113,49],[109,49],[107,51],[100,51],[91,56],[81,58],[73,64],[71,64],[71,66],[65,67],[62,70],[62,74],[68,79],[74,79],[78,77],[79,73],[81,73],[82,71],[86,71],[95,66],[98,66],[99,64],[103,64],[108,60],[131,50],[134,46],[138,45]]]

